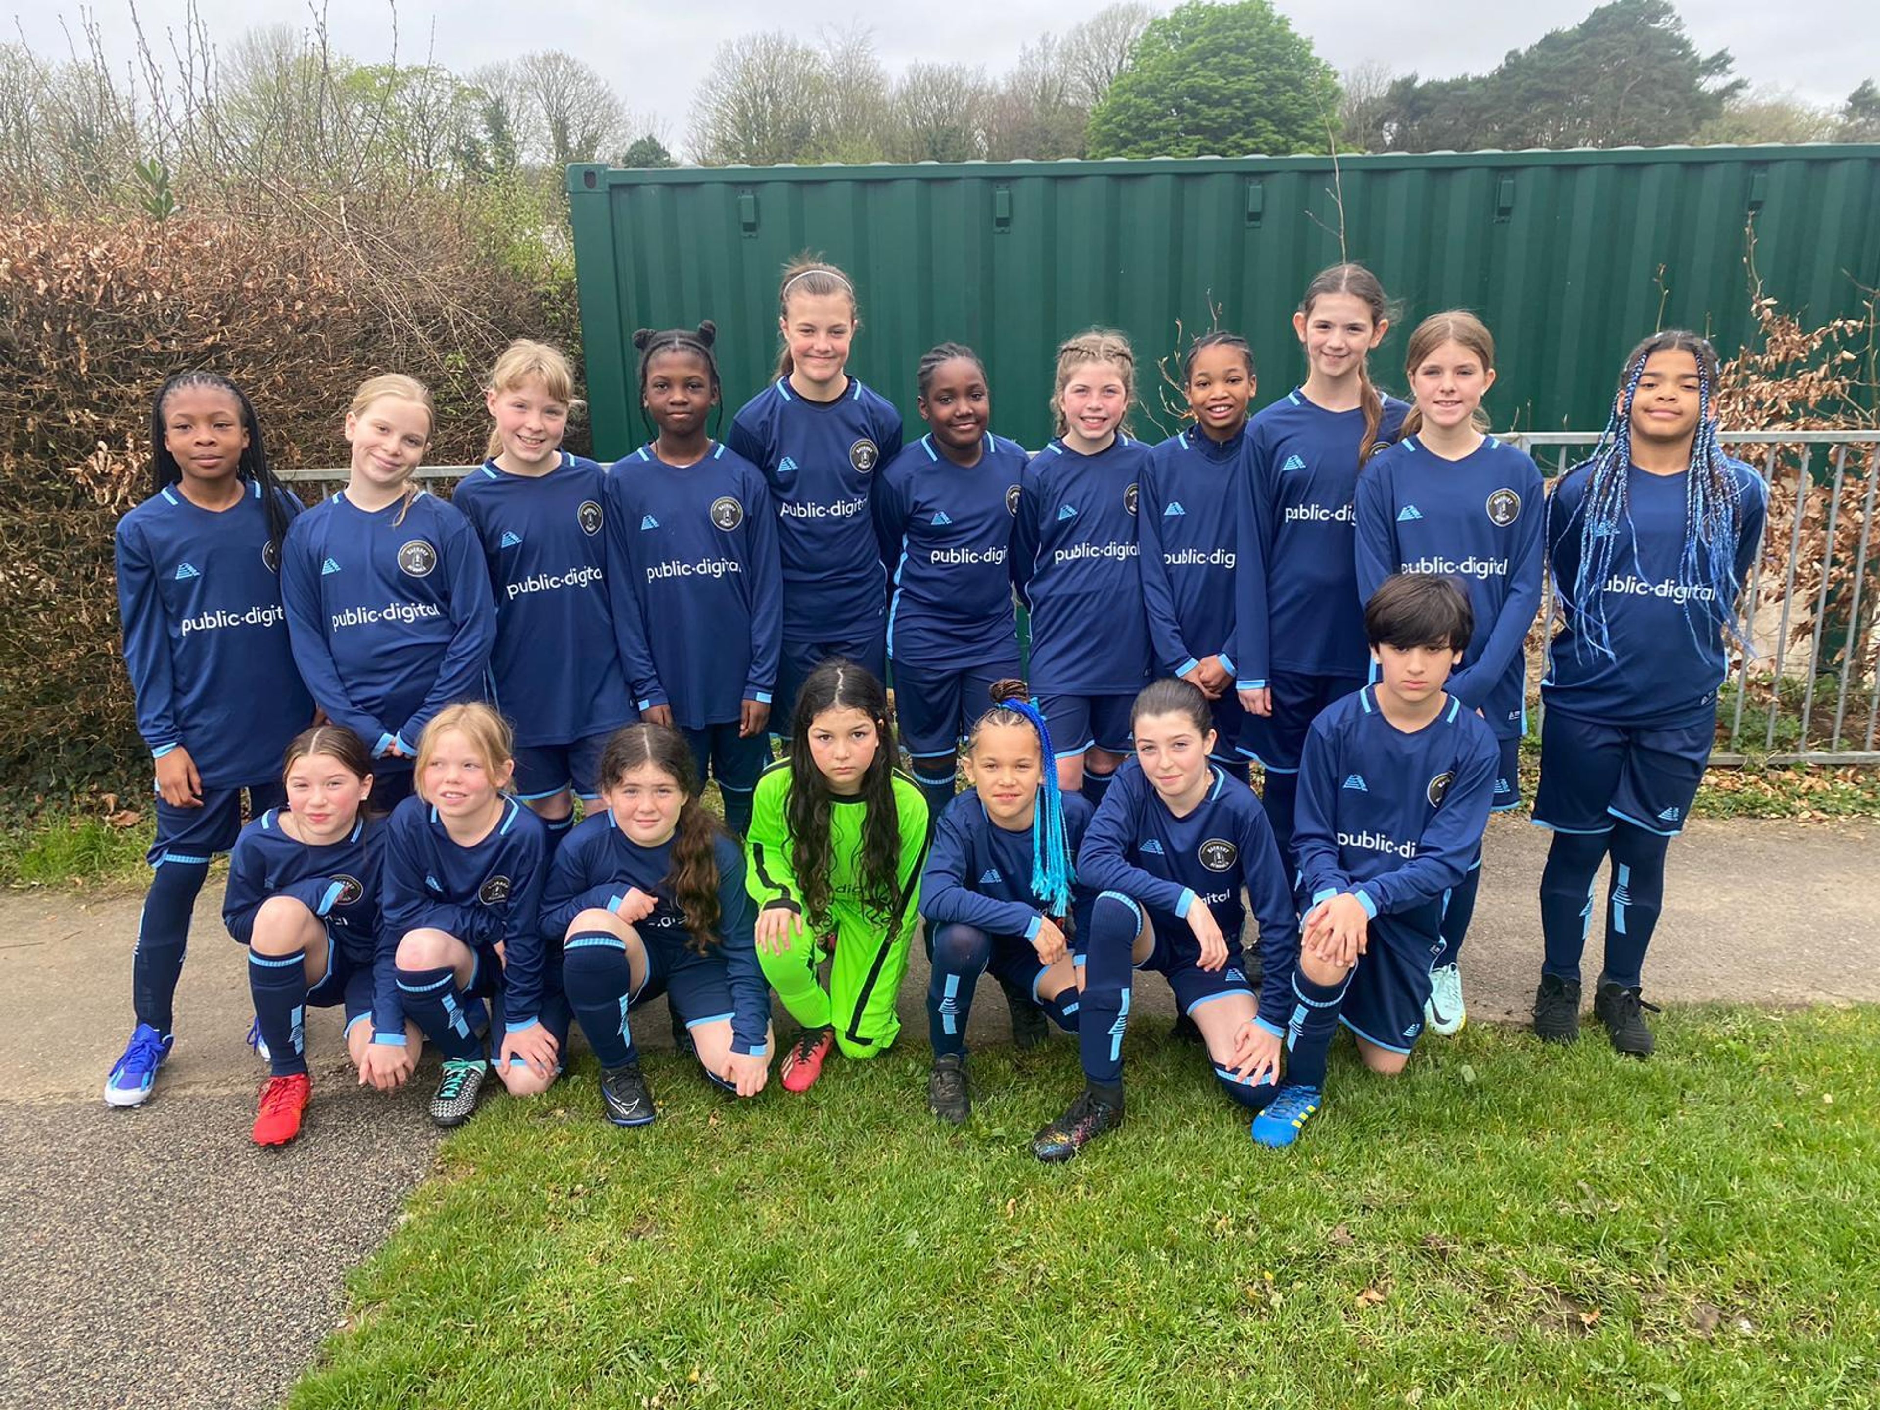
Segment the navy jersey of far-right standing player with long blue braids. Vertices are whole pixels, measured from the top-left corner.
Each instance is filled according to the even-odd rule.
[[[1726,464],[1741,506],[1733,545],[1733,581],[1741,587],[1762,547],[1769,489],[1741,461]],[[1701,724],[1715,714],[1716,688],[1728,673],[1724,628],[1737,594],[1726,602],[1709,587],[1679,587],[1690,472],[1654,476],[1630,466],[1628,474],[1628,513],[1617,525],[1613,570],[1598,587],[1611,654],[1589,639],[1574,607],[1590,468],[1568,472],[1547,506],[1547,556],[1564,624],[1547,645],[1542,699],[1547,709],[1602,724],[1660,729]]]

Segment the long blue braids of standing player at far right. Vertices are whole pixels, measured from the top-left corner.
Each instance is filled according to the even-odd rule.
[[[1696,333],[1671,329],[1645,338],[1626,357],[1624,376],[1613,412],[1594,446],[1592,457],[1579,466],[1587,472],[1587,493],[1579,506],[1579,570],[1568,594],[1579,639],[1611,658],[1611,634],[1606,624],[1606,583],[1613,573],[1619,551],[1619,525],[1632,523],[1626,487],[1632,472],[1632,402],[1637,399],[1639,378],[1653,353],[1688,352],[1698,363],[1698,431],[1690,446],[1690,470],[1684,478],[1684,547],[1677,562],[1677,585],[1684,590],[1684,624],[1698,637],[1698,622],[1690,603],[1698,603],[1707,626],[1720,626],[1731,639],[1743,639],[1735,613],[1737,583],[1735,551],[1743,523],[1741,491],[1730,472],[1730,457],[1716,436],[1716,350]],[[1634,558],[1637,549],[1634,547]]]

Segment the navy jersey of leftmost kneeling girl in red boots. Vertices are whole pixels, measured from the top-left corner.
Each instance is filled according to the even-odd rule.
[[[293,897],[325,921],[327,934],[348,959],[372,970],[372,1032],[402,1043],[399,942],[380,925],[385,823],[361,816],[338,842],[308,846],[288,837],[282,814],[284,808],[269,808],[235,838],[222,923],[248,944],[261,906],[271,897]]]

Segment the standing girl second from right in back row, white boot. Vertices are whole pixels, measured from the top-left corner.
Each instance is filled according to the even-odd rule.
[[[1410,335],[1404,376],[1416,408],[1402,438],[1357,478],[1357,592],[1371,600],[1391,573],[1436,573],[1468,592],[1476,630],[1448,690],[1500,741],[1495,810],[1521,803],[1521,735],[1527,731],[1523,643],[1540,611],[1540,470],[1481,427],[1495,385],[1495,338],[1474,314],[1433,314]],[[1476,914],[1481,859],[1444,901],[1444,953],[1431,966],[1429,1028],[1463,1026],[1457,957]]]

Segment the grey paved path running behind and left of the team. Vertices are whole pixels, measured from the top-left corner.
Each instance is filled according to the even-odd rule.
[[[1876,844],[1872,823],[1692,825],[1671,848],[1647,998],[1880,1000]],[[1545,846],[1519,820],[1491,829],[1463,961],[1476,1021],[1521,1021],[1532,1002]],[[246,966],[218,901],[205,893],[196,914],[179,1043],[156,1098],[111,1111],[100,1090],[130,1032],[141,897],[0,897],[0,1246],[11,1256],[0,1404],[11,1410],[278,1402],[344,1316],[346,1271],[432,1166],[434,1066],[395,1098],[363,1092],[331,1011],[310,1025],[306,1134],[286,1151],[248,1145],[263,1073],[243,1043]],[[1596,964],[1589,955],[1589,974]],[[925,1042],[925,983],[916,955],[902,993],[912,1045]],[[991,983],[979,996],[974,1038],[1000,1042],[1004,1002]],[[1137,1011],[1166,1023],[1166,987],[1145,983]],[[664,1026],[643,1026],[649,1045]]]

